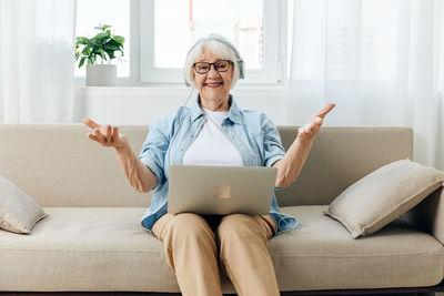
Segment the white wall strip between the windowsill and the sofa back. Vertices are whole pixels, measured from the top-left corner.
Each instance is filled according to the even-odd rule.
[[[91,118],[99,123],[147,125],[185,103],[191,89],[153,86],[77,88],[75,121]],[[286,125],[287,92],[284,89],[239,88],[232,91],[242,109],[262,111],[276,125]],[[194,91],[191,100],[194,100]],[[189,104],[190,104],[189,102]]]

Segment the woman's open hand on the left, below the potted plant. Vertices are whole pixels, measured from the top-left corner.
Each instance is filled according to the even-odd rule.
[[[102,146],[121,149],[128,144],[127,137],[119,134],[118,126],[100,125],[91,119],[82,119],[82,122],[93,130],[92,133],[87,133],[87,136]]]

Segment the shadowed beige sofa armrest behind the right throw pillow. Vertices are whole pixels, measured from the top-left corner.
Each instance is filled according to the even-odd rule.
[[[402,216],[413,226],[430,233],[444,245],[444,190],[440,187]]]

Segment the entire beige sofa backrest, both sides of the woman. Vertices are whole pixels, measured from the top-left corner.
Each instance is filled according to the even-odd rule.
[[[149,206],[151,193],[127,182],[113,149],[85,136],[81,124],[0,124],[0,175],[14,182],[43,206]],[[280,126],[290,146],[296,127]],[[135,153],[147,126],[122,126]],[[408,127],[323,127],[296,180],[278,192],[280,205],[329,204],[373,170],[412,159]]]

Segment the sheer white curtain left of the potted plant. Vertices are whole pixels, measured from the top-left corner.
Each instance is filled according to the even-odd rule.
[[[73,120],[75,0],[0,0],[0,122]]]

